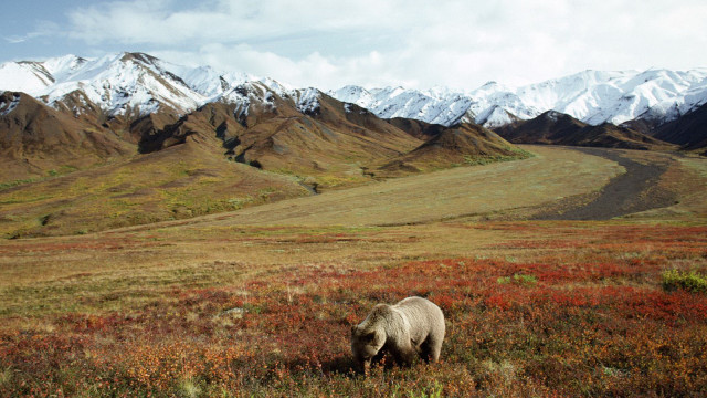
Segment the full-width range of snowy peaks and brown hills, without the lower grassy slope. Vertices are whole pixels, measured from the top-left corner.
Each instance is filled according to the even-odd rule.
[[[513,146],[487,128],[516,143],[651,149],[669,147],[664,139],[699,150],[707,142],[699,127],[704,116],[695,115],[705,112],[707,69],[584,71],[518,88],[489,82],[471,91],[350,85],[325,93],[117,53],[3,63],[0,91],[4,180],[187,140],[209,143],[214,153],[266,170],[298,176],[336,170],[344,180],[373,169],[386,175],[393,168],[443,167],[441,159],[454,158],[446,164],[456,165],[468,156],[508,156]],[[562,135],[566,125],[552,127],[552,137],[528,133],[544,123],[547,130],[548,115],[553,123],[567,115],[577,122],[570,124],[582,124],[580,133]],[[472,148],[439,137],[450,129],[481,144]],[[430,148],[440,146],[430,140],[455,147],[458,156],[432,160]],[[426,165],[413,159],[422,153]]]

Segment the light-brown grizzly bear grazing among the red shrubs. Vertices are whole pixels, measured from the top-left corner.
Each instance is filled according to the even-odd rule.
[[[426,298],[408,297],[394,305],[376,305],[363,322],[354,325],[351,353],[365,371],[384,353],[399,365],[411,365],[418,356],[435,363],[443,339],[442,310]]]

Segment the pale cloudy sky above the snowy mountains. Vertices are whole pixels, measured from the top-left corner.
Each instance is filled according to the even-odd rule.
[[[705,0],[22,0],[0,62],[146,52],[335,90],[707,66]]]

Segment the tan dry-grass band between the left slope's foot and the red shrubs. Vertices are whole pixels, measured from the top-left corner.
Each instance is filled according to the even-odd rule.
[[[136,308],[176,287],[238,284],[324,263],[389,266],[440,250],[479,254],[497,239],[496,231],[453,226],[316,230],[189,226],[6,241],[0,245],[0,314]]]

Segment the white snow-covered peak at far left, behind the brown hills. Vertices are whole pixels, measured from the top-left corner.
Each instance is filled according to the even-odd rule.
[[[53,107],[78,93],[84,105],[88,106],[88,101],[109,115],[123,115],[129,109],[149,114],[160,107],[184,112],[207,100],[163,65],[140,53],[6,63],[0,66],[0,87],[25,92]]]

